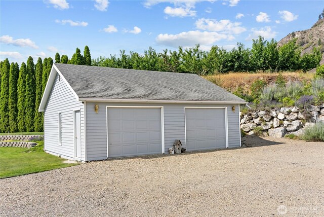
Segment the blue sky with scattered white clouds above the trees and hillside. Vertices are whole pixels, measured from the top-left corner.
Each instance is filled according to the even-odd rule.
[[[261,34],[279,41],[288,33],[310,28],[324,1],[0,1],[1,60],[28,56],[71,58],[89,46],[92,58],[140,54],[213,45],[251,46]]]

